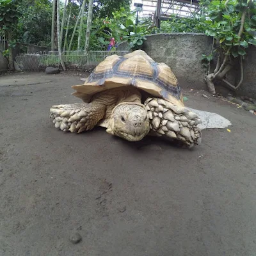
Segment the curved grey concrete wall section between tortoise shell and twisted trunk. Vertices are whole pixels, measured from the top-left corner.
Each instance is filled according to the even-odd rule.
[[[168,33],[146,36],[143,51],[157,62],[164,62],[179,80],[182,88],[206,89],[202,54],[210,54],[212,38],[200,33]],[[120,44],[127,50],[127,44]]]

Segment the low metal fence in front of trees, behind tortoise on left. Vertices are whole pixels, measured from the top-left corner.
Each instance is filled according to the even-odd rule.
[[[62,53],[62,58],[67,70],[93,70],[107,56],[116,54],[124,56],[129,51],[65,51]],[[45,70],[46,67],[56,67],[62,69],[58,51],[36,52],[32,54],[20,54],[16,56],[16,62],[26,71]]]

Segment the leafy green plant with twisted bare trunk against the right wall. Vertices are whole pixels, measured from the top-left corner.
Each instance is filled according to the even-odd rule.
[[[243,82],[243,60],[249,44],[256,45],[252,31],[256,29],[256,5],[252,0],[214,0],[210,3],[204,1],[204,12],[209,20],[206,34],[213,36],[214,44],[217,45],[218,61],[214,71],[211,72],[210,63],[213,52],[210,56],[203,56],[203,61],[209,65],[205,81],[209,92],[215,94],[214,82],[223,81],[233,89],[239,88]],[[213,49],[214,47],[212,47]],[[237,85],[231,84],[225,79],[236,60],[239,60],[240,81]]]

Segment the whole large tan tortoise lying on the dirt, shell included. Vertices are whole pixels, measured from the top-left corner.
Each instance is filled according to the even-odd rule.
[[[171,68],[142,50],[106,57],[84,84],[72,88],[72,95],[83,102],[50,109],[55,127],[62,131],[80,133],[98,125],[128,141],[148,134],[189,147],[201,143],[201,120],[184,106]]]

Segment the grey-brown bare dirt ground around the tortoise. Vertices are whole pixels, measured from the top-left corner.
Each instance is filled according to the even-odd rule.
[[[49,108],[79,102],[80,77],[0,76],[0,255],[255,255],[256,116],[186,90],[230,132],[204,130],[189,150],[58,131]]]

